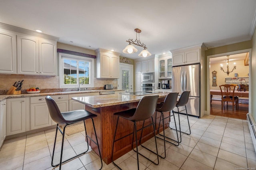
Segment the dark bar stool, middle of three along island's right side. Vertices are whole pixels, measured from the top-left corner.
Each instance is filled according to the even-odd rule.
[[[160,136],[163,136],[163,137],[164,137],[164,138],[160,138],[160,137],[156,136],[157,138],[160,138],[160,139],[164,140],[164,157],[160,156],[161,158],[166,158],[165,142],[169,142],[169,143],[174,144],[174,145],[176,145],[176,146],[179,145],[179,136],[178,136],[178,131],[177,131],[177,130],[176,130],[177,140],[174,140],[174,139],[172,139],[172,138],[169,138],[169,137],[165,136],[165,133],[164,133],[164,135],[162,135],[162,134],[159,133],[159,128],[160,128],[160,123],[161,123],[161,121],[162,121],[163,132],[164,132],[164,119],[168,119],[168,118],[170,119],[170,117],[172,117],[172,116],[173,116],[173,118],[174,118],[174,123],[175,123],[175,127],[176,127],[176,121],[175,121],[175,116],[174,116],[174,114],[171,115],[171,113],[170,113],[170,116],[164,118],[163,112],[171,112],[171,111],[174,109],[174,107],[176,106],[176,103],[177,103],[178,94],[179,94],[179,93],[169,93],[169,94],[165,97],[164,102],[158,103],[158,104],[156,105],[156,113],[158,113],[158,112],[161,113],[160,121],[159,121],[159,125],[158,125],[158,134],[159,134]],[[156,114],[156,116],[157,116],[157,114]],[[155,119],[155,122],[156,122],[156,119]],[[176,129],[177,129],[177,127],[176,127]],[[170,142],[170,141],[166,140],[165,138],[168,138],[168,139],[170,139],[170,140],[173,140],[174,142],[177,142],[177,144],[175,144],[175,143],[173,143],[173,142]]]

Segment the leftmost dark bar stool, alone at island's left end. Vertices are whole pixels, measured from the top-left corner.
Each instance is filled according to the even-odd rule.
[[[90,138],[90,136],[87,135],[86,132],[86,126],[85,126],[85,120],[86,119],[92,119],[94,117],[97,117],[97,115],[90,113],[86,110],[77,110],[77,111],[70,111],[70,112],[60,112],[60,109],[58,108],[58,105],[56,104],[56,102],[54,101],[54,99],[52,99],[50,96],[46,96],[46,104],[48,106],[48,110],[50,112],[50,116],[52,118],[52,120],[54,122],[57,123],[57,127],[56,127],[56,134],[55,134],[55,140],[54,140],[54,147],[53,147],[53,152],[52,152],[52,167],[56,167],[59,166],[59,169],[61,169],[61,165],[62,163],[65,163],[71,159],[74,159],[84,153],[86,153],[89,150],[89,144],[88,144],[88,138]],[[65,135],[65,129],[68,125],[71,125],[73,123],[77,123],[80,121],[84,121],[84,129],[85,129],[85,134],[86,134],[86,142],[87,142],[87,150],[83,153],[80,153],[72,158],[69,158],[68,160],[65,160],[62,162],[62,153],[63,153],[63,143],[64,143],[64,135]],[[63,128],[63,132],[59,127],[59,124],[64,125]],[[92,125],[94,128],[94,133],[95,133],[95,137],[96,137],[96,142],[90,138],[90,140],[92,140],[92,142],[94,142],[97,146],[98,146],[98,150],[99,150],[99,154],[100,154],[100,147],[98,144],[98,138],[96,135],[96,130],[95,130],[95,126],[94,126],[94,121],[92,119]],[[53,164],[53,158],[54,158],[54,150],[55,150],[55,145],[56,145],[56,138],[57,138],[57,132],[58,130],[60,130],[61,134],[62,134],[62,144],[61,144],[61,152],[60,152],[60,163],[59,164]],[[102,158],[101,158],[101,154],[100,154],[100,161],[101,161],[101,167],[100,170],[102,169]]]

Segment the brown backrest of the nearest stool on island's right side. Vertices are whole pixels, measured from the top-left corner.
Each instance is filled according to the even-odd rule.
[[[156,110],[156,103],[158,101],[159,95],[154,96],[144,96],[132,116],[134,121],[144,121],[155,113]]]

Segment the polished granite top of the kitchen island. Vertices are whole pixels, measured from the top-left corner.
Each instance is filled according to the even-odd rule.
[[[169,92],[163,92],[152,95],[159,95],[159,97],[166,97]],[[125,103],[138,102],[142,99],[144,95],[134,96],[134,95],[122,95],[122,94],[113,94],[113,95],[99,95],[99,96],[84,96],[84,97],[72,97],[74,101],[78,101],[92,108],[97,107],[106,107],[113,105],[120,105]]]

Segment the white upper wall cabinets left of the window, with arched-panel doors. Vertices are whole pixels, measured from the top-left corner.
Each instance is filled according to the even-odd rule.
[[[0,73],[57,75],[57,40],[0,23]]]

